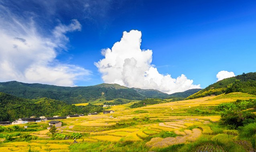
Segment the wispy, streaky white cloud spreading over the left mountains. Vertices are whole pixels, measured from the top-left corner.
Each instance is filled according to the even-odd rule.
[[[67,49],[67,32],[81,30],[73,19],[59,24],[51,34],[39,34],[33,18],[24,19],[0,5],[0,81],[22,81],[74,86],[90,71],[76,65],[60,63],[57,50]]]

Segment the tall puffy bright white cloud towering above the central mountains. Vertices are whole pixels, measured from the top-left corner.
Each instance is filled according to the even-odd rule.
[[[176,79],[169,74],[160,74],[151,64],[152,50],[141,50],[140,43],[141,32],[131,30],[124,32],[121,40],[112,49],[102,50],[105,58],[94,64],[102,73],[105,83],[157,89],[169,94],[200,88],[200,85],[193,85],[193,80],[187,79],[183,74]]]

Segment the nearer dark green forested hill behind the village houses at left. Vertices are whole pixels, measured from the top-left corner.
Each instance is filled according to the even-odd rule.
[[[13,121],[30,116],[67,116],[102,111],[103,108],[97,105],[75,106],[48,98],[32,100],[0,93],[0,121]]]

